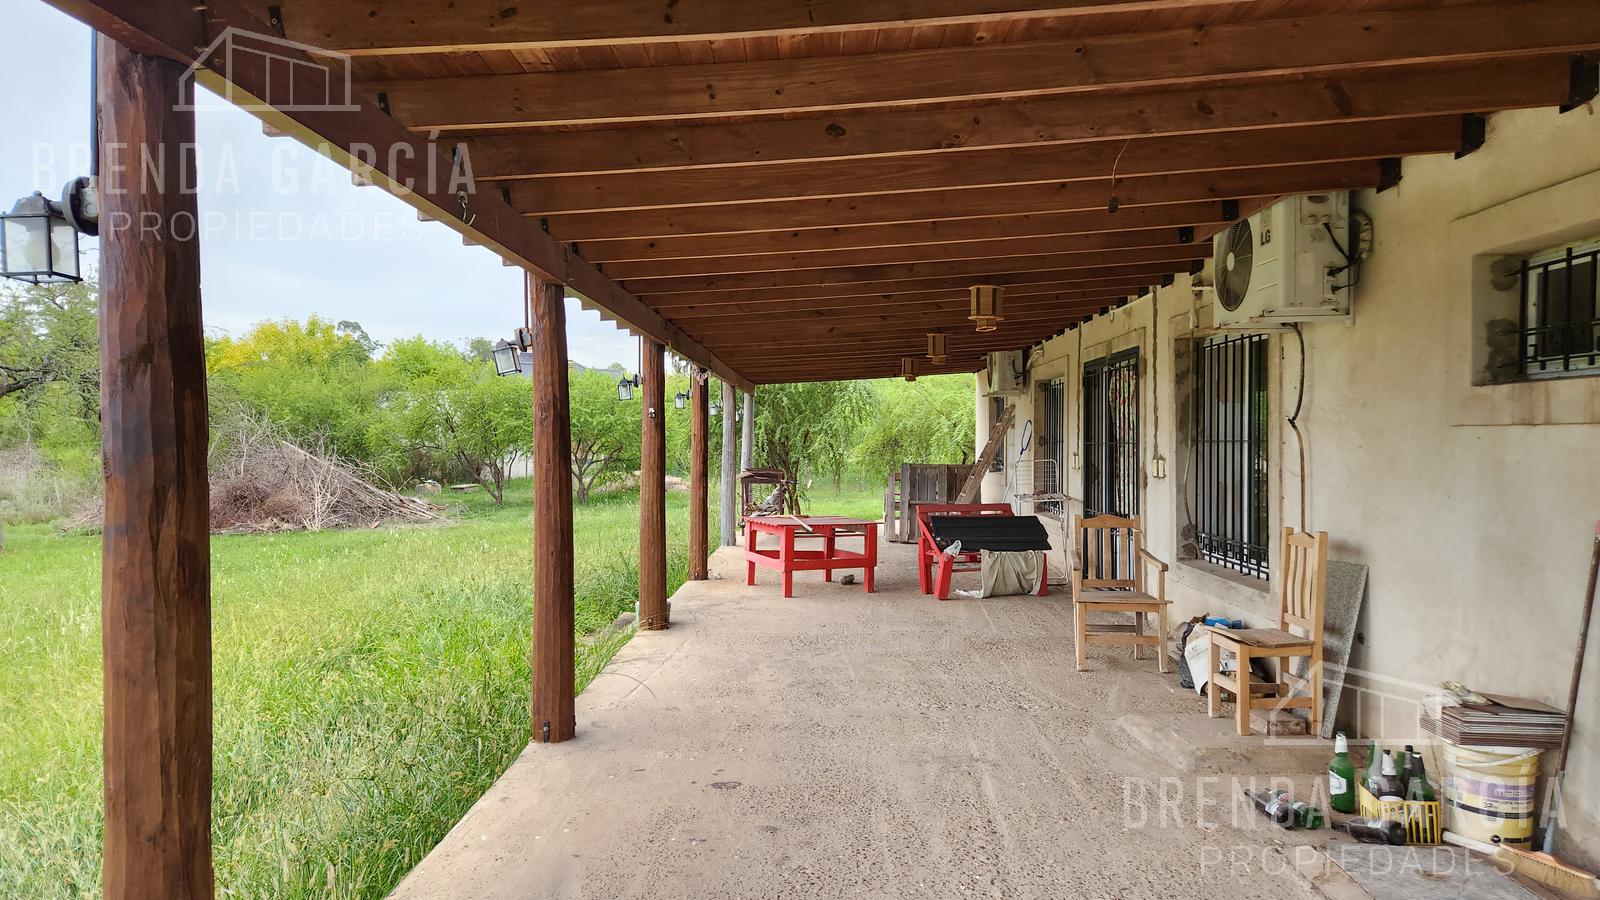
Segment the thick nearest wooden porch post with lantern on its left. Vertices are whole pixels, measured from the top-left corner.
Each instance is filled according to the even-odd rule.
[[[184,67],[99,38],[104,897],[211,897],[211,535]]]

